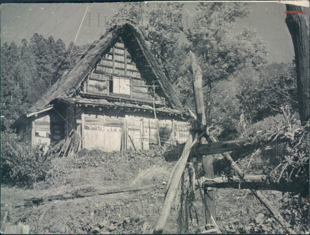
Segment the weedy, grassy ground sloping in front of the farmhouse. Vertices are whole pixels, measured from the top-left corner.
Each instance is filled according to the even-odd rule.
[[[1,187],[1,218],[8,211],[9,224],[29,224],[30,233],[152,233],[161,209],[162,182],[169,176],[173,163],[162,156],[135,157],[135,160],[102,159],[100,153],[79,155],[77,159],[55,159],[46,181],[34,189]],[[151,188],[136,192],[96,195],[69,200],[54,200],[33,207],[17,207],[24,198],[86,192],[128,186]],[[264,192],[274,204],[282,195]],[[217,189],[216,220],[223,233],[282,233],[269,213],[248,191]],[[194,208],[198,226],[190,232],[204,230],[204,210],[198,191]],[[177,232],[178,202],[175,200],[164,233]]]

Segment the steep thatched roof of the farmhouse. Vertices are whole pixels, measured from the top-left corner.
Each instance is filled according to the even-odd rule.
[[[173,109],[181,108],[179,99],[161,69],[162,66],[150,53],[142,34],[131,24],[125,23],[108,28],[106,33],[96,40],[69,71],[32,107],[32,110],[40,110],[56,98],[73,97],[82,80],[91,72],[101,57],[108,53],[119,37],[122,38],[135,63],[142,64],[140,72],[141,76],[146,78],[147,84],[159,86],[156,93],[166,98],[166,106]]]

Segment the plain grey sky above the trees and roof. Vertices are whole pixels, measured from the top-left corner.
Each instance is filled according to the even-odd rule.
[[[44,37],[61,38],[66,45],[75,41],[76,45],[90,43],[106,29],[104,19],[117,12],[121,3],[7,3],[0,5],[1,45],[7,41],[20,43],[21,39],[29,40],[33,33]],[[148,2],[151,7],[160,2]],[[285,4],[276,2],[251,2],[252,12],[246,19],[236,22],[235,30],[243,27],[254,28],[260,37],[269,45],[269,63],[291,63],[294,59],[294,48],[290,33],[285,24]],[[195,12],[196,2],[186,2],[182,17],[189,17]],[[86,10],[87,9],[87,10]],[[309,19],[309,8],[306,8],[306,19]],[[96,27],[96,12],[100,12],[100,26]],[[83,16],[85,17],[83,18]],[[83,20],[83,21],[82,21]],[[81,24],[82,22],[82,24]],[[89,27],[91,26],[91,27]],[[79,29],[80,28],[80,29]],[[184,35],[180,42],[186,42]]]

